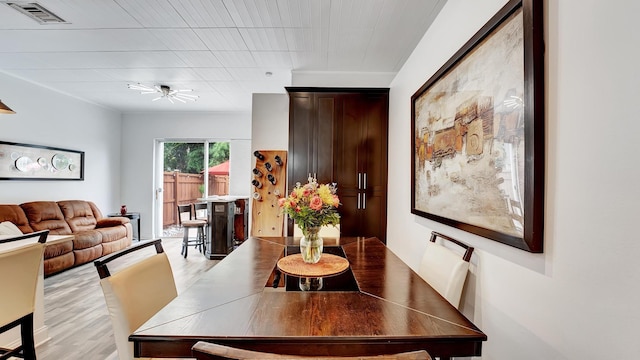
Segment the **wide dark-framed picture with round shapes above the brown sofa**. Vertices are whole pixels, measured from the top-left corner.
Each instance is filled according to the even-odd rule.
[[[0,180],[84,180],[84,151],[0,141]]]

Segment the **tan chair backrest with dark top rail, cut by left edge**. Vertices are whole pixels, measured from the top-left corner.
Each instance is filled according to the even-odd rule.
[[[2,243],[38,239],[0,252],[0,326],[9,324],[35,310],[36,286],[49,230],[9,239]]]

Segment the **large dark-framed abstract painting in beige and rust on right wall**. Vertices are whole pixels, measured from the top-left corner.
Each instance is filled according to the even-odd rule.
[[[542,1],[509,1],[411,97],[411,213],[540,253]]]

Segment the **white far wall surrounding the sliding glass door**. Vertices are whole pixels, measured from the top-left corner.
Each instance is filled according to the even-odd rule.
[[[141,237],[152,233],[154,210],[154,144],[156,140],[192,139],[229,141],[230,195],[249,196],[251,183],[251,114],[213,112],[129,113],[123,115],[122,197],[129,211],[140,212]],[[240,175],[238,175],[240,174]],[[159,221],[158,221],[159,223]]]

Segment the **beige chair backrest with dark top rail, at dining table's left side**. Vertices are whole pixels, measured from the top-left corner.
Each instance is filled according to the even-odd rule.
[[[178,295],[161,241],[143,241],[94,262],[121,360],[133,359],[129,335]],[[110,273],[107,263],[152,245],[155,254],[119,269],[113,275]]]

